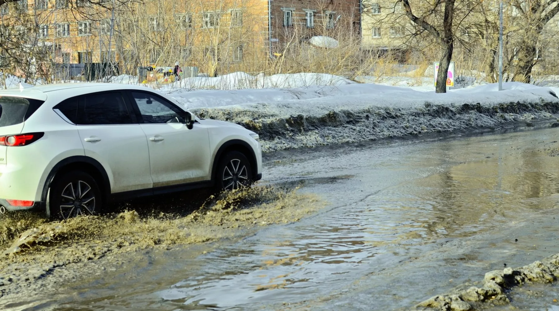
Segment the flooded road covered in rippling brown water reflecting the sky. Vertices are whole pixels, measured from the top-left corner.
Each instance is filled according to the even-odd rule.
[[[4,308],[408,309],[559,253],[559,157],[548,156],[557,141],[559,129],[546,128],[268,154],[263,183],[300,186],[328,205],[242,237],[84,265],[53,293]],[[515,289],[512,305],[559,310],[556,285],[528,290]]]

